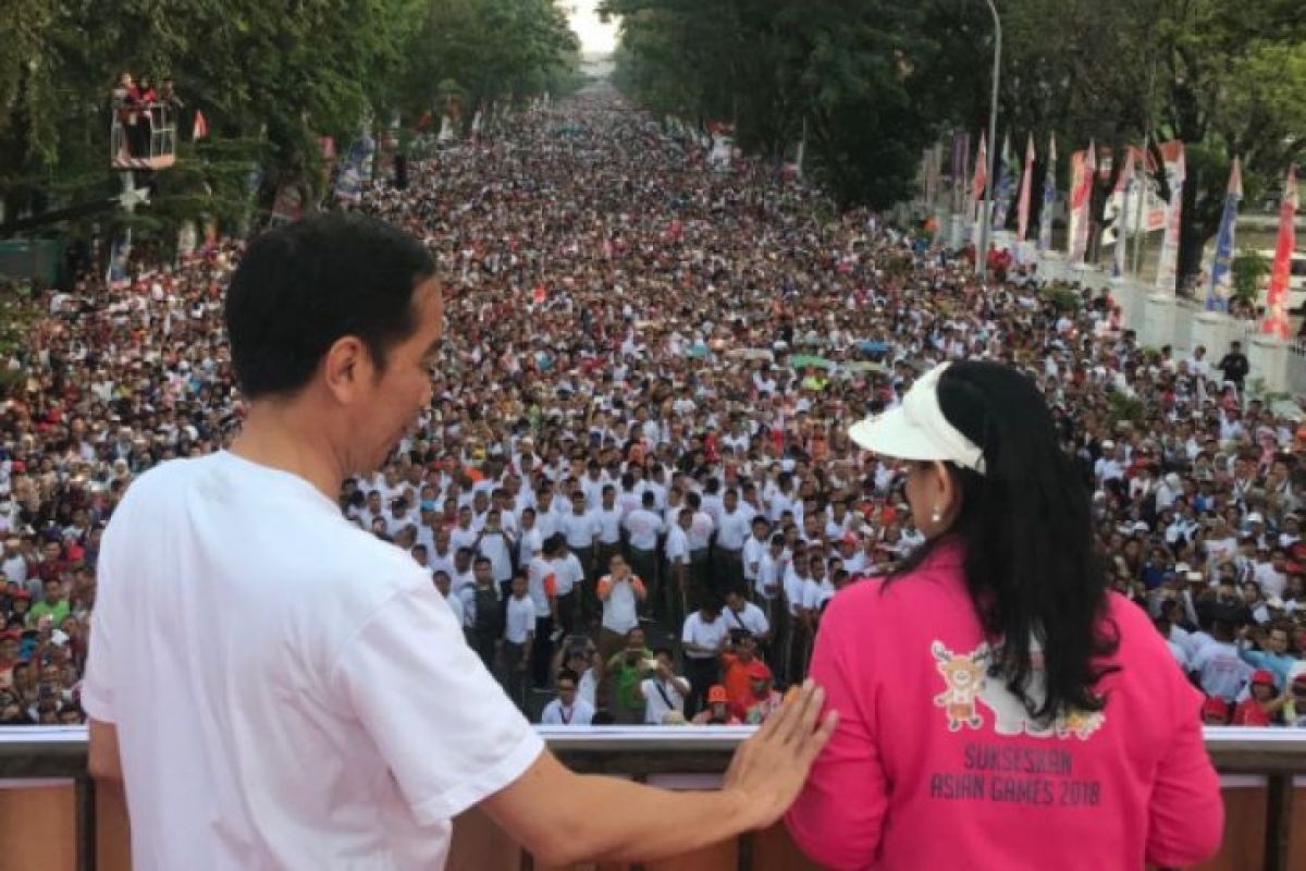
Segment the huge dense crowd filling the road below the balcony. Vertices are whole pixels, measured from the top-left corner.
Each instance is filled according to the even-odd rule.
[[[1020,264],[981,287],[927,234],[705,157],[598,87],[360,206],[438,257],[445,346],[432,407],[341,511],[430,571],[524,710],[761,722],[825,602],[922,541],[901,464],[849,426],[934,362],[986,358],[1054,405],[1113,584],[1204,720],[1306,725],[1306,427],[1247,396],[1238,349],[1140,347],[1105,295]],[[108,515],[239,427],[221,300],[240,251],[34,303],[0,417],[0,723],[81,721]]]

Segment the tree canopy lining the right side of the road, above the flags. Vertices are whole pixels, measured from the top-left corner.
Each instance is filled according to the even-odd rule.
[[[1192,276],[1242,158],[1249,198],[1306,151],[1301,0],[995,0],[999,136],[1063,153],[1179,138]],[[982,0],[605,0],[622,16],[618,84],[658,112],[737,120],[778,154],[808,129],[812,171],[845,205],[910,191],[921,148],[986,127],[993,24]],[[1119,171],[1119,161],[1114,172]],[[1060,170],[1067,171],[1068,161]],[[1097,209],[1114,179],[1100,182]],[[1064,182],[1062,182],[1064,188]]]

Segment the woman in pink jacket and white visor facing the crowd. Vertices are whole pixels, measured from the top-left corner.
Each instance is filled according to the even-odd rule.
[[[829,603],[811,676],[838,729],[786,817],[832,868],[1186,866],[1224,807],[1202,696],[1107,593],[1089,498],[1033,383],[943,364],[855,424],[906,461],[921,546]]]

